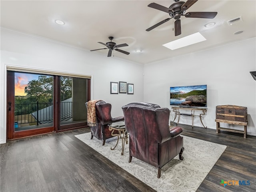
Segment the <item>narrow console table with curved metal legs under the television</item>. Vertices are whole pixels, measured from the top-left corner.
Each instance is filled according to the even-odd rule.
[[[190,111],[190,113],[180,113],[180,110],[187,110],[187,111]],[[176,119],[176,117],[178,117],[177,125],[179,124],[180,116],[186,115],[186,116],[192,117],[192,128],[194,127],[194,117],[195,116],[198,116],[200,118],[200,121],[201,121],[202,125],[204,126],[203,121],[202,121],[202,115],[205,115],[207,108],[172,107],[172,111],[175,113],[174,120]],[[201,111],[201,113],[195,114],[195,111]],[[173,122],[174,122],[174,120],[173,120]],[[207,128],[207,127],[204,126],[204,128]]]

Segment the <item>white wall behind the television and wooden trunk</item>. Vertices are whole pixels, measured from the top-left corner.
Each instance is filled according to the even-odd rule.
[[[170,86],[207,84],[208,110],[204,125],[216,129],[218,105],[246,106],[247,132],[256,135],[256,81],[250,74],[255,70],[255,38],[147,64],[144,66],[144,102],[171,109]],[[174,112],[170,118],[174,118]],[[180,122],[191,125],[191,117],[181,116]],[[199,118],[195,117],[194,125],[202,126]],[[243,129],[228,124],[221,126]]]

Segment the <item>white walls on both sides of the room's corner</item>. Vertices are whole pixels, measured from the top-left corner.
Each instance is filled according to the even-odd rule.
[[[248,134],[256,135],[256,81],[249,73],[256,70],[255,53],[256,40],[252,38],[143,66],[1,29],[0,143],[6,142],[6,65],[91,74],[92,99],[110,102],[113,117],[121,116],[121,107],[130,102],[170,108],[170,86],[207,84],[208,111],[204,124],[216,129],[217,105],[246,106]],[[110,82],[118,81],[133,83],[134,94],[110,94]],[[172,112],[170,118],[173,116]],[[191,124],[191,117],[182,116],[180,122]],[[195,118],[194,125],[202,126],[199,118]]]

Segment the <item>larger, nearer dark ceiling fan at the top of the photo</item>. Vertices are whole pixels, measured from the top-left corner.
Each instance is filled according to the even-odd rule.
[[[178,36],[181,34],[181,24],[180,24],[181,16],[190,17],[190,18],[213,19],[217,15],[217,12],[188,12],[185,14],[186,10],[188,8],[190,8],[198,0],[187,0],[186,2],[183,2],[180,0],[174,0],[174,1],[175,1],[175,3],[171,4],[169,8],[159,5],[159,4],[156,4],[156,3],[150,3],[148,5],[148,7],[166,12],[171,16],[171,18],[174,18],[176,20],[174,22],[175,36]],[[160,21],[159,23],[146,29],[146,31],[150,31],[150,30],[160,26],[161,24],[167,22],[171,18],[167,18],[167,19]]]

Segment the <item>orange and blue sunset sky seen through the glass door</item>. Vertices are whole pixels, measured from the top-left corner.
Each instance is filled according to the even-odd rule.
[[[37,74],[15,73],[15,96],[25,96],[24,89],[28,82],[35,79],[38,80]]]

